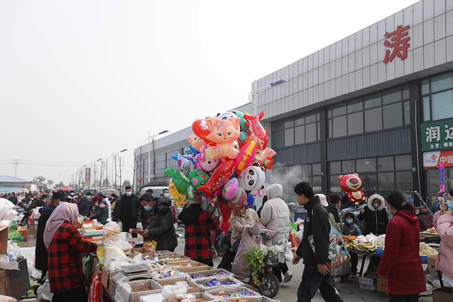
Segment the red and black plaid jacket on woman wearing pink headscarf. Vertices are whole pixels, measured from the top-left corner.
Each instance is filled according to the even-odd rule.
[[[96,244],[85,240],[75,226],[63,222],[48,249],[50,291],[65,292],[84,286],[82,253],[96,249]]]

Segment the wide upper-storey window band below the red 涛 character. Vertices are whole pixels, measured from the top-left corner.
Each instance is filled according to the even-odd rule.
[[[410,124],[409,86],[404,85],[327,107],[328,137],[336,138]]]

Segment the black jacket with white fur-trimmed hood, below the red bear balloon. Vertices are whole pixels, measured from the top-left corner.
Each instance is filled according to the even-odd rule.
[[[381,204],[377,209],[373,208],[371,203],[374,199],[381,201]],[[386,201],[384,197],[379,194],[371,195],[366,201],[367,205],[364,207],[365,211],[363,214],[359,214],[357,217],[359,220],[365,220],[365,234],[370,233],[374,235],[383,235],[386,234],[387,224],[389,223],[389,216],[387,216],[387,211],[384,208]]]

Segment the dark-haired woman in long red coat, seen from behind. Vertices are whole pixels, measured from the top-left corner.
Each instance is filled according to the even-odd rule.
[[[415,207],[406,201],[401,190],[386,197],[387,209],[393,214],[386,230],[386,247],[378,274],[389,277],[389,302],[416,302],[426,290],[420,259],[420,225]]]

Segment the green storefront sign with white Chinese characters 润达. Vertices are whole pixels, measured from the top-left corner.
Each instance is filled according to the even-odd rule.
[[[422,151],[453,149],[453,120],[420,126]]]

